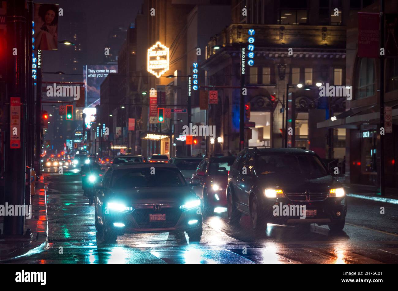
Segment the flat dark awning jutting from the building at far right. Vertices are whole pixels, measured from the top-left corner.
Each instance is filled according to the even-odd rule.
[[[395,101],[394,104],[386,104],[386,106],[396,107],[398,104]],[[316,127],[359,129],[364,123],[378,124],[380,121],[379,108],[377,104],[365,108],[353,108],[330,119],[318,122]],[[394,117],[398,118],[398,108],[392,109],[392,118]]]

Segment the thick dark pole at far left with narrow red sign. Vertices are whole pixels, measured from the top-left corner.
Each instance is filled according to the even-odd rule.
[[[7,126],[5,146],[5,201],[9,205],[25,204],[26,162],[26,82],[27,48],[25,1],[8,1],[7,7]],[[13,52],[17,54],[13,54]],[[31,57],[31,56],[29,56]],[[19,104],[19,105],[17,105]],[[18,108],[19,106],[19,108]],[[11,110],[13,107],[13,110]],[[18,109],[20,112],[18,113]],[[13,119],[12,119],[13,118]],[[19,128],[18,128],[19,127]],[[16,133],[16,135],[14,134]],[[4,234],[23,235],[24,213],[4,216]]]

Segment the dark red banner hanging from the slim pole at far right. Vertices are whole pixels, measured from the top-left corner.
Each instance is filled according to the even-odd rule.
[[[358,12],[358,57],[380,56],[380,17],[378,13]]]

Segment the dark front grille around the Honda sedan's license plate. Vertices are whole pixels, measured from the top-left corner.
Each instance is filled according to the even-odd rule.
[[[179,208],[163,208],[155,212],[153,209],[135,209],[133,211],[133,218],[141,228],[169,228],[174,227],[181,217],[181,210]],[[149,221],[149,214],[166,214],[165,221]]]

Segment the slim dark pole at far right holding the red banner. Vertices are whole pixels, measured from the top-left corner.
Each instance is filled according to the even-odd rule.
[[[380,48],[384,48],[384,0],[380,0]],[[384,56],[380,55],[380,128],[384,128]],[[384,196],[384,135],[380,135],[380,195]]]

